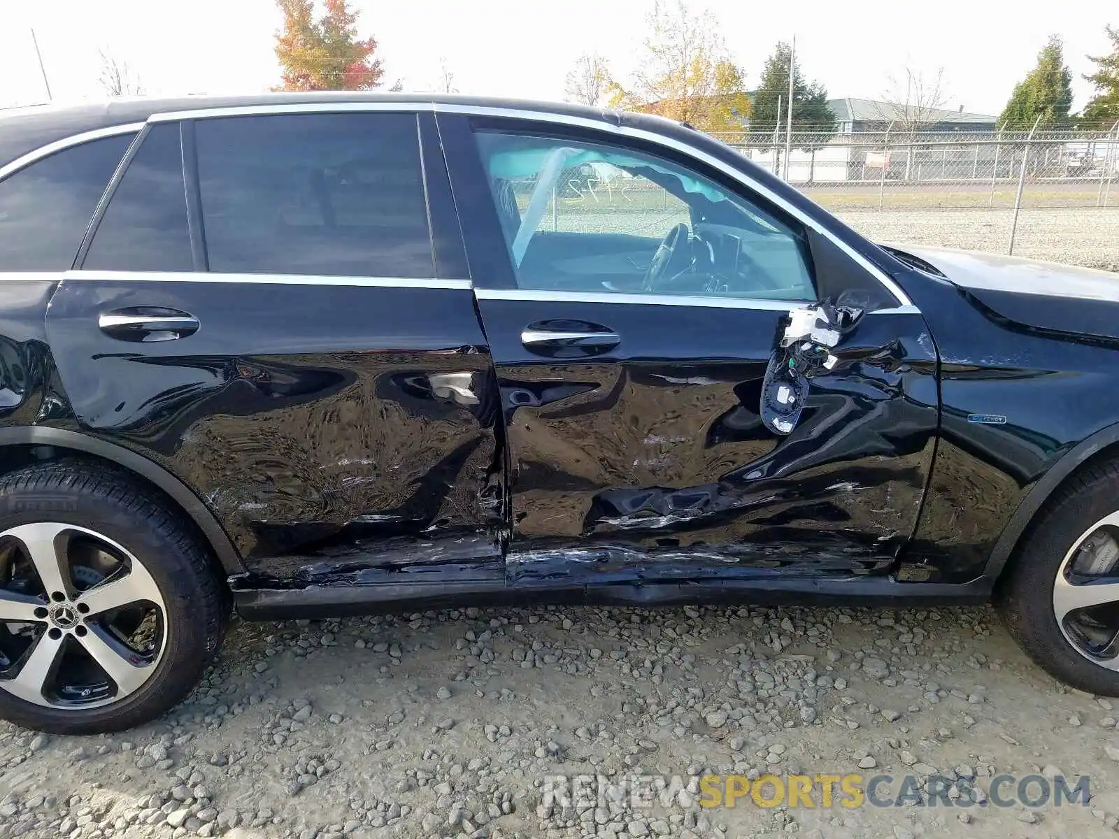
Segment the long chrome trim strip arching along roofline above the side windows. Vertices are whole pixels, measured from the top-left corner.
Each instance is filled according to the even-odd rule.
[[[305,102],[305,103],[291,103],[291,104],[267,104],[267,105],[242,105],[242,106],[231,106],[231,107],[215,107],[215,109],[195,109],[190,111],[169,111],[160,114],[152,114],[149,117],[149,122],[163,122],[168,120],[204,120],[204,119],[216,119],[222,116],[250,116],[250,115],[264,115],[264,114],[284,114],[284,113],[330,113],[330,112],[360,112],[360,111],[427,111],[435,113],[449,113],[449,114],[466,114],[473,116],[505,116],[515,120],[534,120],[537,122],[554,122],[562,125],[577,125],[580,128],[591,129],[594,131],[603,131],[611,134],[618,134],[620,136],[628,136],[634,140],[643,140],[646,142],[660,145],[662,148],[673,149],[678,152],[683,152],[696,160],[700,160],[707,166],[718,169],[724,175],[730,176],[743,186],[754,190],[759,195],[763,196],[767,200],[772,201],[774,205],[780,207],[782,210],[788,213],[790,216],[799,220],[801,224],[811,227],[821,236],[826,236],[836,247],[843,251],[847,256],[857,262],[864,270],[868,271],[875,280],[882,283],[891,294],[897,300],[897,305],[911,305],[912,301],[909,295],[902,290],[900,285],[886,274],[882,268],[872,263],[861,253],[855,251],[850,245],[841,239],[836,238],[829,230],[822,227],[816,219],[806,215],[803,211],[789,204],[784,198],[777,195],[770,190],[764,185],[758,182],[751,178],[745,172],[724,163],[717,158],[707,154],[705,151],[696,149],[694,145],[683,143],[662,134],[658,134],[652,131],[646,131],[643,129],[634,129],[623,125],[613,125],[609,122],[591,120],[585,116],[571,116],[568,114],[561,113],[549,113],[547,111],[529,111],[524,109],[515,107],[493,107],[490,105],[469,105],[459,103],[443,103],[443,102],[397,102],[397,101],[369,101],[369,102]],[[826,211],[826,210],[825,210]]]

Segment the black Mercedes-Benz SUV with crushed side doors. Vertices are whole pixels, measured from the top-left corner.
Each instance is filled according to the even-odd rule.
[[[655,116],[0,116],[0,717],[244,618],[994,596],[1119,694],[1119,277],[880,246]]]

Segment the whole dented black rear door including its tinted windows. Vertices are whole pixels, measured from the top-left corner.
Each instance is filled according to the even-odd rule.
[[[82,430],[191,487],[255,584],[499,556],[491,361],[420,138],[407,112],[152,122],[51,302]]]

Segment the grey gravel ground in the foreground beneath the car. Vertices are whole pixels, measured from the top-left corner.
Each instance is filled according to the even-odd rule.
[[[235,622],[158,723],[87,738],[0,724],[0,836],[1111,835],[1112,707],[1055,684],[979,607]],[[943,775],[978,800],[1000,773],[1088,774],[1091,801],[565,809],[544,794],[556,774],[765,772]]]

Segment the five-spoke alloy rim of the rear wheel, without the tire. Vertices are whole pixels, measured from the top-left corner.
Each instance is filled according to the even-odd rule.
[[[106,536],[60,522],[0,532],[0,690],[57,709],[139,690],[167,645],[143,564]]]

